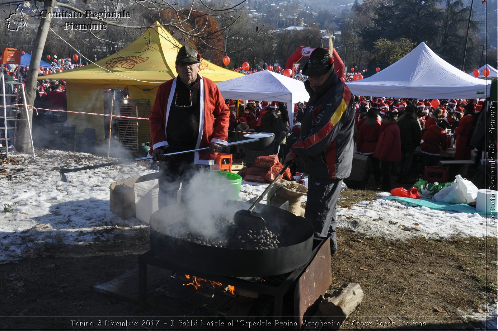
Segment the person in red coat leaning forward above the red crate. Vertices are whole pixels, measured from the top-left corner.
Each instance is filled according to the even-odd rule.
[[[448,148],[448,139],[446,130],[450,128],[447,119],[442,119],[436,125],[427,129],[424,136],[424,142],[420,146],[420,152],[423,154],[422,165],[425,169],[427,165],[436,166],[441,159],[441,150],[446,151]]]

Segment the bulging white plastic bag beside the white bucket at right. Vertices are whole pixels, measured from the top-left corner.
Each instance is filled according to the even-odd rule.
[[[464,179],[458,174],[455,177],[455,182],[434,194],[432,200],[453,204],[475,203],[477,191],[478,188],[472,181]]]

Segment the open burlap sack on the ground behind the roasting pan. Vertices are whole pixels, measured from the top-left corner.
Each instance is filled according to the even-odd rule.
[[[301,207],[301,197],[306,195],[308,187],[294,181],[281,179],[268,191],[266,199],[270,206],[280,206],[289,201],[289,211],[297,216],[304,216],[304,208]]]

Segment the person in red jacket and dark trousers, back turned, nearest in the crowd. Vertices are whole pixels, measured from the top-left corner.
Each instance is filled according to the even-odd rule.
[[[382,117],[377,146],[373,152],[373,157],[380,161],[382,190],[387,192],[391,191],[391,166],[401,160],[401,136],[394,115],[392,111],[388,111]]]

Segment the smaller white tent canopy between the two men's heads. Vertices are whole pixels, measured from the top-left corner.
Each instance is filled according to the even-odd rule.
[[[286,102],[291,128],[294,118],[294,104],[309,99],[303,82],[269,70],[232,78],[216,85],[225,99]]]

